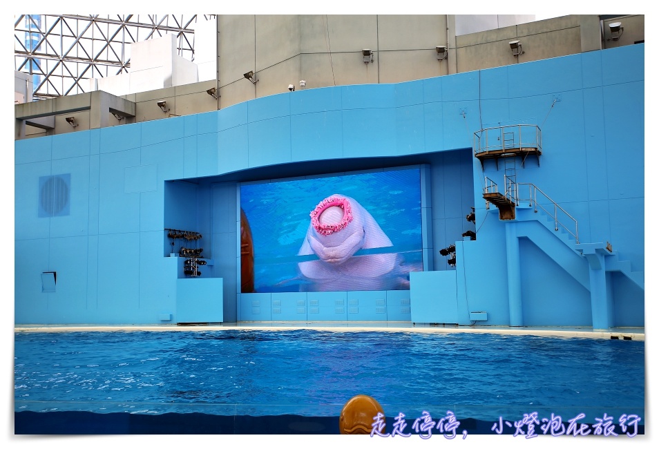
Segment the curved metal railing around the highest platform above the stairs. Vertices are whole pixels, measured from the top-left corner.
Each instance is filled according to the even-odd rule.
[[[485,128],[474,133],[474,154],[485,151],[537,148],[542,150],[542,133],[537,125],[517,124]]]

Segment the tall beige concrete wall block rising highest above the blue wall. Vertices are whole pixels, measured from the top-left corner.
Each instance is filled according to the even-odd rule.
[[[222,108],[300,89],[377,84],[448,73],[435,46],[447,45],[446,15],[222,15]],[[373,50],[365,64],[361,50]],[[242,75],[254,70],[256,85]]]

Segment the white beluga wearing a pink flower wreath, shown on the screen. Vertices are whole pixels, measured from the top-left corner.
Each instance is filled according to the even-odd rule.
[[[315,254],[318,260],[299,262],[307,291],[396,289],[399,255],[355,255],[361,249],[393,247],[373,216],[359,202],[330,195],[309,213],[311,222],[298,256]],[[393,249],[393,248],[392,248]],[[368,252],[368,251],[365,251]]]

